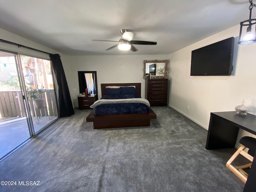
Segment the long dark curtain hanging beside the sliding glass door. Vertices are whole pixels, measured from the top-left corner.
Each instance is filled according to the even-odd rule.
[[[50,54],[52,61],[52,68],[56,75],[58,82],[58,93],[59,93],[59,115],[60,117],[68,117],[74,114],[72,101],[68,89],[68,83],[60,60],[59,54]]]

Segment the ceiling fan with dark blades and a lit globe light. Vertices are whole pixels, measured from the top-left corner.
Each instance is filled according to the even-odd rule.
[[[157,42],[152,42],[152,41],[137,41],[137,40],[132,40],[133,38],[133,32],[127,30],[127,29],[121,29],[120,30],[122,37],[120,38],[119,41],[110,41],[110,40],[98,40],[98,39],[93,39],[93,41],[110,41],[110,42],[118,42],[118,44],[107,48],[107,50],[110,50],[112,48],[115,48],[118,46],[118,49],[120,50],[132,50],[132,51],[138,51],[133,45],[156,45]]]

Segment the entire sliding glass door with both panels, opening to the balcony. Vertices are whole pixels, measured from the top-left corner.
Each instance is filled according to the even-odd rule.
[[[0,50],[0,160],[58,118],[50,60]]]

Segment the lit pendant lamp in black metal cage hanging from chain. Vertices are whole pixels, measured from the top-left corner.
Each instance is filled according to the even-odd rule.
[[[238,44],[251,44],[256,42],[256,19],[252,19],[252,8],[256,7],[256,4],[253,4],[252,0],[249,0],[249,2],[250,17],[248,20],[240,22]]]

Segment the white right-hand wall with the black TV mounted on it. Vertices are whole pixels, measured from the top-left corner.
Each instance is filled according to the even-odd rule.
[[[190,76],[192,50],[231,36],[235,37],[231,76]],[[256,44],[238,45],[238,36],[239,25],[170,54],[169,105],[206,129],[210,112],[234,111],[243,99],[256,114]]]

